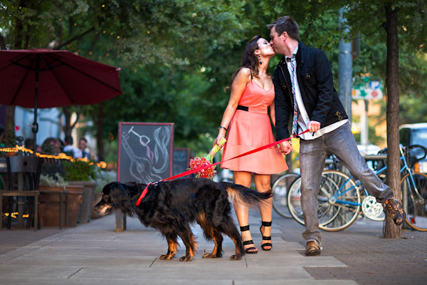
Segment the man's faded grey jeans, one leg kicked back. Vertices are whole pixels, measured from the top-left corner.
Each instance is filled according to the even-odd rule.
[[[386,199],[393,197],[390,187],[367,167],[357,149],[349,123],[315,140],[300,140],[301,206],[305,222],[302,237],[307,242],[317,242],[319,246],[322,244],[322,238],[317,219],[317,194],[328,151],[337,156],[354,180],[362,182],[369,195],[376,197],[377,202],[384,204]]]

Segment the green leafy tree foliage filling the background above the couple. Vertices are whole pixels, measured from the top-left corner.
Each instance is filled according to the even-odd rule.
[[[68,49],[80,56],[120,66],[124,95],[78,109],[102,129],[106,141],[120,121],[172,122],[177,147],[209,150],[209,138],[229,98],[223,88],[236,71],[246,42],[269,38],[265,24],[290,15],[300,24],[301,41],[321,48],[332,64],[337,86],[338,43],[361,38],[362,56],[354,76],[385,81],[386,1],[190,1],[190,0],[1,0],[0,44],[8,48]],[[393,1],[399,6],[399,89],[416,110],[427,97],[426,0]],[[338,9],[347,7],[349,33],[339,26]],[[360,34],[359,34],[360,32]],[[270,61],[270,71],[280,59]],[[411,104],[411,106],[407,105]],[[99,110],[102,108],[103,112]],[[402,123],[426,120],[401,112]],[[207,134],[207,135],[206,135]],[[199,142],[204,142],[200,145]],[[196,149],[195,152],[200,152]]]

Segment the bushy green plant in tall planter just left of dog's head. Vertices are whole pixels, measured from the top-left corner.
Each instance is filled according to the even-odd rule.
[[[85,160],[63,160],[63,176],[69,185],[83,186],[83,202],[78,215],[78,223],[86,224],[92,214],[93,197],[95,195],[96,166]]]

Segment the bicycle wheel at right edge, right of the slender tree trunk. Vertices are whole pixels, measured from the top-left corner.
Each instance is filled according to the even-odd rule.
[[[406,223],[413,229],[427,232],[427,175],[421,172],[414,172],[411,176],[406,174],[401,180],[403,204],[406,210]],[[418,190],[419,196],[416,193]]]

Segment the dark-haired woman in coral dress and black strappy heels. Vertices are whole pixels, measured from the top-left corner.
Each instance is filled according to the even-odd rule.
[[[214,142],[214,144],[218,143],[227,133],[223,160],[275,142],[268,116],[268,108],[270,108],[270,116],[274,125],[274,86],[267,71],[268,62],[273,56],[275,56],[275,52],[265,38],[255,36],[246,45],[241,68],[231,78],[230,100]],[[270,190],[270,176],[272,174],[288,170],[285,158],[276,146],[223,162],[221,167],[233,170],[234,182],[246,187],[251,187],[253,173],[258,192]],[[261,248],[270,250],[272,248],[272,199],[261,203],[259,207],[263,220],[260,227],[260,232],[263,235]],[[234,202],[234,209],[241,226],[245,251],[248,254],[256,254],[258,249],[254,246],[249,231],[248,206]]]

